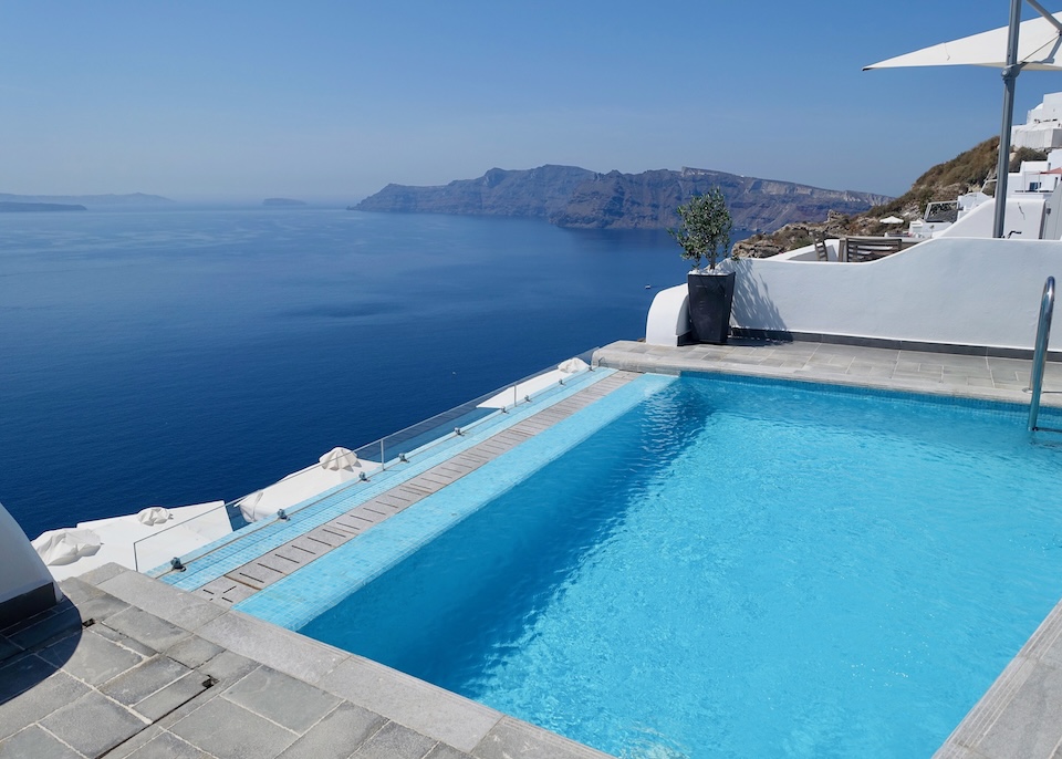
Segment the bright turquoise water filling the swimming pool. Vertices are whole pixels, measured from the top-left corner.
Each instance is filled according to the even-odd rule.
[[[929,756],[1062,595],[1060,474],[1020,409],[684,377],[301,632],[622,757]]]

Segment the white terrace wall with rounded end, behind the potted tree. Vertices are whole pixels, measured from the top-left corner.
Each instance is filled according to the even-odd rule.
[[[736,326],[1030,349],[1062,242],[940,238],[866,263],[741,259],[737,272]],[[646,342],[675,345],[688,330],[680,292],[657,295]]]

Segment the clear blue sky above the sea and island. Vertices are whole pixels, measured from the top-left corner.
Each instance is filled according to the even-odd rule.
[[[998,133],[999,72],[861,67],[1008,7],[7,0],[0,193],[355,200],[551,163],[895,195]],[[1022,74],[1019,121],[1054,91]]]

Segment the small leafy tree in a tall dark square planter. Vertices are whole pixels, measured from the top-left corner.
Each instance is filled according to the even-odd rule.
[[[733,220],[727,200],[715,187],[679,206],[678,216],[683,223],[667,231],[683,247],[683,258],[694,262],[687,277],[694,340],[722,345],[730,333],[735,280],[733,271],[725,273],[716,268],[730,251]],[[700,268],[702,258],[708,260],[707,269]]]

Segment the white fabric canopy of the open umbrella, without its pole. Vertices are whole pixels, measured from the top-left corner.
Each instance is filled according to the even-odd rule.
[[[1062,13],[1052,18],[1062,23]],[[988,66],[1002,69],[1007,65],[1008,27],[990,32],[964,37],[951,42],[941,42],[913,53],[897,55],[887,61],[864,66],[871,69],[903,69],[908,66]],[[1018,25],[1018,63],[1028,71],[1062,70],[1062,32],[1043,17],[1022,21]]]

